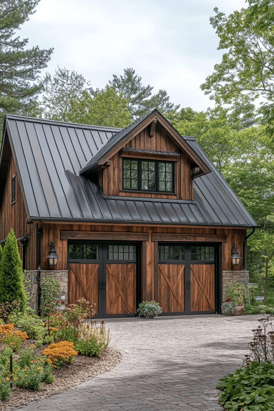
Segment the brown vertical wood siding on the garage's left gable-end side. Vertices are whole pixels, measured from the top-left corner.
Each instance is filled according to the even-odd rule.
[[[16,176],[16,201],[12,204],[12,176]],[[30,240],[26,247],[26,269],[33,270],[37,268],[36,264],[36,229],[37,224],[26,224],[28,217],[23,194],[19,183],[18,174],[14,158],[11,155],[9,161],[9,169],[3,196],[2,205],[0,208],[0,240],[7,237],[10,229],[14,229],[16,238],[20,238],[27,233],[30,233]],[[23,246],[18,241],[18,248],[21,259],[23,259]]]

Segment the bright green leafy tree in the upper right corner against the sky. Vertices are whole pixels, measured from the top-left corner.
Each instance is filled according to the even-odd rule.
[[[252,3],[256,3],[251,6]],[[256,7],[255,7],[256,6]],[[250,6],[230,16],[219,12],[210,23],[219,36],[219,50],[226,50],[214,73],[201,85],[218,104],[233,106],[234,119],[254,118],[255,102],[264,98],[259,113],[272,129],[274,119],[274,9],[273,0],[250,1]],[[255,7],[255,8],[254,8]],[[236,121],[237,122],[237,121]]]

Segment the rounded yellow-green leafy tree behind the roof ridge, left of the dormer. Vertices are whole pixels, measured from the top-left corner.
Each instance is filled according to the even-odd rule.
[[[127,99],[117,95],[111,87],[105,90],[83,91],[81,97],[71,100],[71,114],[68,120],[83,124],[105,127],[127,127],[131,123],[131,115],[127,107]]]

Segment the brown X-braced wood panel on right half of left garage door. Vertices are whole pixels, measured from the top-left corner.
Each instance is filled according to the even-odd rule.
[[[106,314],[136,312],[136,264],[106,264]]]

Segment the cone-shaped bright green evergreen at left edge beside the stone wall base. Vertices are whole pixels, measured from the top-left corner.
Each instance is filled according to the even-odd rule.
[[[21,312],[25,311],[27,305],[23,281],[22,260],[14,231],[11,229],[7,235],[0,263],[0,299],[1,302],[10,303],[14,300],[20,300]]]

